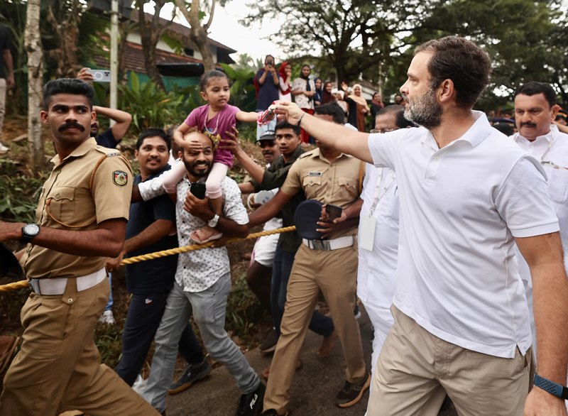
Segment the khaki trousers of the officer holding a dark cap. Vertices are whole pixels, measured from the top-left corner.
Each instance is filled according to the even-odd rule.
[[[266,385],[264,410],[286,413],[296,361],[320,290],[332,312],[335,331],[342,344],[346,380],[352,383],[366,376],[359,324],[353,314],[356,282],[356,245],[332,251],[300,246],[288,282],[281,335]]]

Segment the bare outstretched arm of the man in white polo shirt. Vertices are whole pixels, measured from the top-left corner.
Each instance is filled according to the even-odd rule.
[[[276,113],[283,114],[290,124],[302,127],[318,141],[365,162],[373,163],[371,150],[368,148],[368,133],[360,133],[340,124],[318,119],[291,102],[276,102]]]

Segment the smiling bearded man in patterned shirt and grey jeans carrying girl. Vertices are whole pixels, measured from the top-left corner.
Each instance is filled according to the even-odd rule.
[[[234,180],[224,177],[223,217],[214,214],[207,199],[191,193],[196,182],[204,183],[213,164],[213,143],[202,133],[190,133],[188,141],[201,143],[200,150],[182,148],[187,176],[178,183],[175,205],[180,246],[187,246],[192,231],[205,224],[226,236],[244,237],[249,232],[249,217]],[[187,199],[186,199],[187,195]],[[216,244],[219,244],[218,241]],[[193,314],[203,343],[215,361],[223,363],[243,392],[236,415],[256,415],[262,403],[264,385],[256,376],[239,347],[224,329],[226,299],[231,291],[231,268],[225,247],[211,246],[180,254],[173,289],[155,335],[148,387],[143,397],[160,412],[165,412],[165,393],[173,377],[178,341]]]

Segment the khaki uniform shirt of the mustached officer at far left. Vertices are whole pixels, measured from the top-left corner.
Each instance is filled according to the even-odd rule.
[[[103,158],[107,155],[106,158]],[[40,226],[70,231],[97,229],[107,219],[129,218],[130,164],[115,149],[89,138],[55,167],[41,189],[35,220]],[[90,187],[91,176],[99,163]],[[105,257],[60,253],[29,243],[21,258],[27,278],[74,278],[104,268]]]

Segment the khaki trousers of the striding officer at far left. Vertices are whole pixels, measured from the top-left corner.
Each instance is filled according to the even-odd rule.
[[[158,415],[111,368],[101,364],[93,332],[109,299],[109,281],[64,295],[32,293],[21,310],[21,351],[4,379],[0,415]]]

